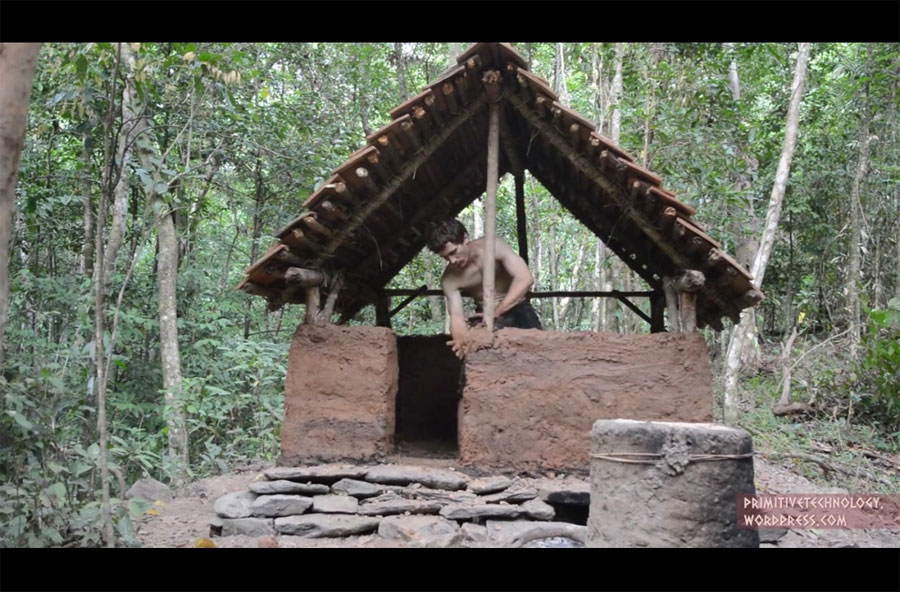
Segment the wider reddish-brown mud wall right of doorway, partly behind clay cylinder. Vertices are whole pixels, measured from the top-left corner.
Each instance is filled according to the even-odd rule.
[[[699,333],[505,329],[465,372],[459,447],[470,466],[586,473],[598,419],[712,421]]]

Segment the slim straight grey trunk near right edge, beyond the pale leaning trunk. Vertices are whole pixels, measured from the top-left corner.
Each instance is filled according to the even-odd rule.
[[[866,176],[869,160],[869,76],[872,73],[872,48],[866,45],[866,69],[863,73],[863,108],[860,116],[859,158],[856,165],[856,176],[850,190],[850,257],[847,269],[847,313],[850,317],[850,357],[856,359],[860,341],[860,307],[859,307],[859,234],[860,234],[860,187]]]

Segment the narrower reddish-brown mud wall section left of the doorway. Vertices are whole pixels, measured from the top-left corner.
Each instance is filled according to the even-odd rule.
[[[288,357],[281,463],[372,460],[392,452],[397,384],[390,329],[300,325]]]

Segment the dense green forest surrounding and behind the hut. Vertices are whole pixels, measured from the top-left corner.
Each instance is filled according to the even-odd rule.
[[[0,545],[134,544],[131,518],[148,508],[122,499],[127,483],[277,458],[303,306],[270,313],[235,287],[334,167],[467,46],[40,47],[0,282]],[[757,450],[810,477],[897,491],[900,47],[818,43],[801,59],[795,43],[513,46],[748,269],[805,62],[766,299],[728,409],[736,332],[703,330],[716,419],[730,410]],[[644,289],[538,182],[525,187],[534,290]],[[504,178],[510,244],[514,201]],[[476,237],[482,208],[462,214]],[[390,287],[436,287],[442,267],[423,252]],[[648,331],[614,301],[538,306],[547,329]],[[444,329],[439,297],[394,318],[398,334]]]

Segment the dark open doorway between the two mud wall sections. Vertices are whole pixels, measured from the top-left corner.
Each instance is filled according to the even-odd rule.
[[[448,335],[397,337],[400,387],[397,441],[440,441],[456,448],[460,397],[459,359]]]

